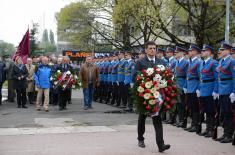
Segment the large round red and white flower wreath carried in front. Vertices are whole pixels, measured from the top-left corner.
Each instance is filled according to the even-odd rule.
[[[157,65],[137,73],[133,87],[136,110],[144,114],[157,114],[170,110],[177,102],[177,87],[169,68]]]

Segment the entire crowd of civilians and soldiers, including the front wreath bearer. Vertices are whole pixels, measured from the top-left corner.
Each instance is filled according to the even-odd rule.
[[[189,49],[179,46],[167,49],[156,48],[154,42],[146,43],[138,56],[131,52],[104,54],[86,57],[81,67],[74,67],[66,56],[28,58],[24,65],[20,57],[13,62],[0,61],[0,88],[8,81],[8,101],[14,102],[16,90],[18,108],[27,108],[26,102],[41,106],[46,112],[49,104],[59,105],[66,110],[71,104],[71,88],[55,88],[50,77],[60,70],[79,75],[84,93],[84,110],[92,107],[92,100],[124,108],[133,112],[131,88],[135,75],[142,69],[157,64],[168,66],[174,73],[179,100],[176,110],[153,118],[159,151],[169,149],[163,141],[162,120],[188,132],[195,132],[206,138],[212,137],[221,143],[231,143],[235,122],[235,48],[223,43],[218,51],[210,45],[199,48],[192,44]],[[76,70],[77,69],[77,70]],[[1,95],[0,95],[1,97]],[[139,146],[145,147],[143,134],[145,114],[139,115]],[[187,127],[188,117],[191,125]],[[206,124],[202,132],[202,123]],[[216,128],[222,124],[223,135],[215,138]],[[157,138],[160,137],[160,138]]]

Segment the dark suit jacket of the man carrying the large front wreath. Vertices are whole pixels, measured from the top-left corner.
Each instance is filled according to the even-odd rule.
[[[157,66],[157,65],[166,66],[167,64],[162,59],[158,59],[157,57],[155,57],[154,64],[151,61],[149,61],[147,56],[145,56],[143,59],[138,60],[135,64],[133,81],[135,81],[138,71],[142,71],[143,69],[153,68],[154,66]]]

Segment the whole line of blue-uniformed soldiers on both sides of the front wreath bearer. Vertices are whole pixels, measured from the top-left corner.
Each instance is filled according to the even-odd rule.
[[[230,143],[235,126],[235,49],[223,43],[217,59],[213,59],[215,52],[209,45],[200,49],[194,44],[189,49],[178,46],[175,49],[157,49],[157,57],[171,68],[179,90],[176,110],[165,121],[186,131],[213,137],[221,143]],[[95,91],[94,100],[132,111],[129,90],[133,86],[136,61],[129,52],[94,59],[100,70],[100,86]],[[189,127],[188,117],[192,119]],[[219,120],[223,120],[224,134],[215,138]],[[206,123],[203,132],[202,122]]]

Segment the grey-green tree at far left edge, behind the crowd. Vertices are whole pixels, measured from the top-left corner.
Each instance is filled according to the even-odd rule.
[[[13,44],[4,41],[0,42],[0,57],[11,56],[15,50]]]

